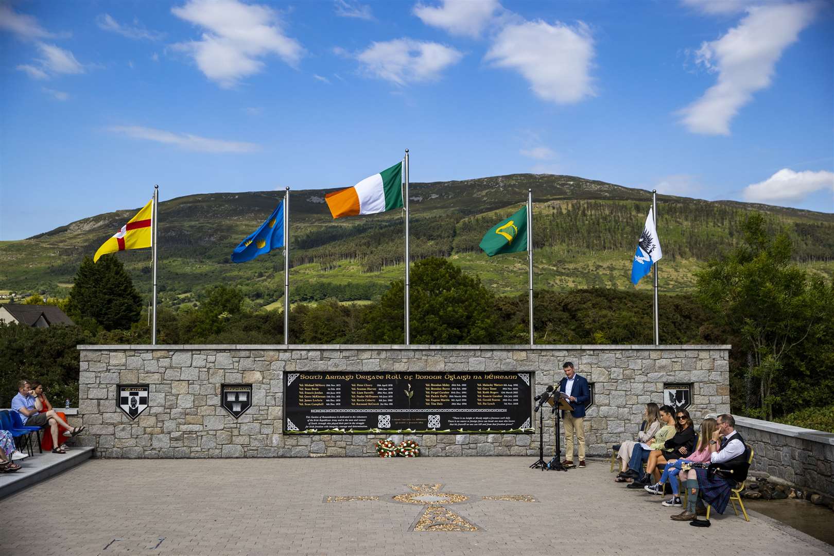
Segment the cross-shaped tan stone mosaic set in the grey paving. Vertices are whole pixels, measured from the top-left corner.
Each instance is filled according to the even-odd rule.
[[[481,531],[482,527],[472,523],[458,513],[453,512],[447,505],[480,500],[500,500],[505,502],[537,502],[530,494],[498,494],[472,497],[461,493],[448,493],[442,490],[443,484],[408,484],[410,492],[394,494],[393,502],[418,504],[423,507],[420,516],[409,528],[410,531]],[[325,496],[325,503],[333,502],[376,502],[386,499],[384,496]]]

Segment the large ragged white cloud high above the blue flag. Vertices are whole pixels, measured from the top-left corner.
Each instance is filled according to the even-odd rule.
[[[223,88],[259,73],[264,68],[260,58],[268,54],[277,54],[292,67],[304,54],[298,41],[284,35],[278,15],[266,6],[189,0],[171,12],[205,29],[200,40],[173,48],[190,54],[200,71]]]

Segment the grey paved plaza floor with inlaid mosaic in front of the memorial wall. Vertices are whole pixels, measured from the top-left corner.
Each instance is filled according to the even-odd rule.
[[[95,459],[0,501],[0,553],[834,554],[730,507],[672,522],[607,462],[533,459]]]

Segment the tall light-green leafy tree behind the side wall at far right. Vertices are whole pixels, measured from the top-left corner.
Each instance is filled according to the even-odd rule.
[[[834,283],[792,263],[787,233],[772,233],[762,214],[751,214],[742,232],[744,243],[697,273],[698,298],[740,339],[734,351],[751,354],[746,369],[734,369],[746,373],[751,395],[736,397],[751,398],[746,409],[772,419],[796,403],[834,395]],[[802,392],[809,388],[816,393]]]

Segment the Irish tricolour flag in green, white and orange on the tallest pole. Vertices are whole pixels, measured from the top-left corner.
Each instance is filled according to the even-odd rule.
[[[364,178],[352,188],[324,195],[333,218],[383,213],[403,206],[403,163]]]

